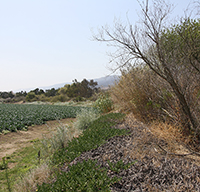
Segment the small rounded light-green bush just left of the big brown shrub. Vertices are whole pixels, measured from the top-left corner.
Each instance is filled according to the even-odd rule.
[[[108,93],[101,93],[98,99],[95,101],[94,107],[100,110],[102,113],[111,111],[113,109],[113,102]]]

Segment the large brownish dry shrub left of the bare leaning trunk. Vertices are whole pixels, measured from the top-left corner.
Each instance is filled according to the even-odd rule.
[[[142,121],[180,120],[180,107],[173,90],[148,68],[123,71],[110,93],[122,110],[133,112]]]

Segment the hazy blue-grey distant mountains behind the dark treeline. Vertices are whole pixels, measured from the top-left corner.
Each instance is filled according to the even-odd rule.
[[[115,82],[119,80],[119,77],[120,76],[117,76],[117,75],[111,75],[111,76],[101,77],[101,78],[97,78],[93,80],[98,83],[97,87],[106,89],[109,86],[114,85]],[[87,79],[87,80],[90,81],[91,79]],[[37,87],[37,88],[43,89],[43,90],[52,89],[52,88],[58,89],[58,88],[64,87],[64,85],[66,84],[72,84],[72,82],[65,82],[65,83],[60,83],[60,84],[55,84],[55,85],[45,86],[45,87]],[[23,91],[29,92],[34,89],[35,88],[23,89]],[[14,92],[19,92],[19,91],[22,91],[22,90],[14,90]]]

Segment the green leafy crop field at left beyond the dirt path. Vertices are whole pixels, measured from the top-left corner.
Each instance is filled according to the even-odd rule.
[[[16,131],[49,120],[73,118],[79,106],[0,104],[0,132]]]

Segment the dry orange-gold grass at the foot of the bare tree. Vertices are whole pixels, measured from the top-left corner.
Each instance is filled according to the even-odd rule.
[[[189,143],[188,137],[181,134],[179,127],[168,123],[153,122],[145,125],[139,122],[133,114],[127,115],[125,124],[134,130],[133,147],[124,152],[125,156],[143,159],[146,155],[151,157],[176,156],[195,161],[200,165],[200,157],[189,154],[191,151],[186,147]],[[161,148],[160,148],[161,147]],[[167,153],[166,153],[167,152]],[[174,155],[173,155],[174,154]],[[155,165],[158,161],[155,160]]]

